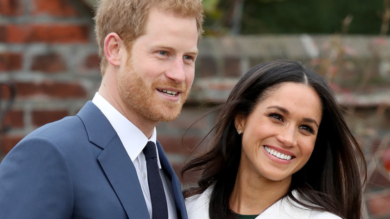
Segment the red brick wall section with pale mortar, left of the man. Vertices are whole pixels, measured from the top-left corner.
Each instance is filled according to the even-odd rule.
[[[16,88],[3,120],[2,155],[93,96],[100,74],[91,14],[78,0],[0,0],[0,82]],[[1,90],[4,104],[9,92]]]

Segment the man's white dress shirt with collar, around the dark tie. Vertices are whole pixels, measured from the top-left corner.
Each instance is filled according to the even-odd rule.
[[[95,93],[92,102],[100,109],[104,116],[111,123],[112,127],[118,134],[120,141],[131,161],[134,164],[139,184],[141,185],[142,193],[145,198],[147,210],[151,215],[151,201],[149,186],[147,184],[147,171],[146,171],[146,160],[143,155],[142,149],[146,145],[147,141],[156,142],[156,129],[154,127],[153,134],[148,139],[138,127],[136,127],[131,121],[124,117],[118,110],[116,110],[106,99],[104,99],[98,92]],[[156,146],[157,150],[157,146]],[[157,164],[159,167],[159,173],[164,186],[166,203],[168,206],[168,218],[177,218],[176,207],[174,204],[174,197],[172,194],[172,188],[170,181],[161,169],[161,164],[157,152]]]

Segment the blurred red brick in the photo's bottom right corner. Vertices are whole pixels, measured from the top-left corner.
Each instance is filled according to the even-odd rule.
[[[390,195],[374,195],[371,196],[367,201],[367,208],[370,215],[374,215],[382,218],[390,217]],[[388,217],[384,217],[388,216]]]

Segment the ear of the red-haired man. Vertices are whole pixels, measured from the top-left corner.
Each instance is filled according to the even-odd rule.
[[[104,55],[108,62],[114,66],[120,65],[123,42],[119,35],[115,32],[110,32],[104,39]]]

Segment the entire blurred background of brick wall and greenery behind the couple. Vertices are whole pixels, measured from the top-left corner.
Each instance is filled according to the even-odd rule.
[[[361,143],[366,218],[390,218],[390,0],[203,4],[205,33],[190,97],[176,120],[157,126],[182,185],[196,183],[196,173],[181,176],[180,168],[207,147],[207,139],[198,143],[214,123],[214,114],[201,116],[253,65],[294,59],[328,80]],[[101,81],[94,5],[0,0],[0,160],[33,129],[76,114],[93,97]]]

